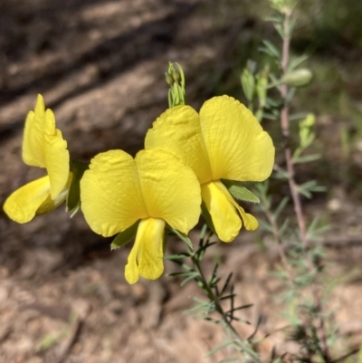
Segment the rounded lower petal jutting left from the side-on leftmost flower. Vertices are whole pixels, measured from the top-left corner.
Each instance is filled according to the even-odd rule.
[[[50,194],[49,177],[41,177],[15,190],[5,201],[5,213],[17,223],[29,222]]]

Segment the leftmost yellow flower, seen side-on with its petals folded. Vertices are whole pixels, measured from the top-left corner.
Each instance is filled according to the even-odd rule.
[[[5,213],[18,223],[29,222],[34,215],[60,205],[71,182],[67,142],[55,128],[52,110],[45,110],[41,95],[25,120],[23,160],[27,165],[46,168],[48,175],[20,187],[6,199]]]

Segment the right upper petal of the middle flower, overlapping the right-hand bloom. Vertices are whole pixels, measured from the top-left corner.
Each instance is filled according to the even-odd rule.
[[[178,158],[156,148],[138,152],[136,164],[148,215],[162,218],[187,234],[200,215],[200,186],[195,173]]]

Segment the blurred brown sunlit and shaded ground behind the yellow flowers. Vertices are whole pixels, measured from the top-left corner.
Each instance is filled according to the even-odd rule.
[[[135,154],[167,107],[168,61],[183,65],[188,102],[196,109],[215,93],[241,97],[237,72],[260,38],[271,33],[262,23],[264,13],[264,2],[247,0],[1,2],[0,203],[38,176],[21,160],[24,117],[37,93],[54,110],[71,158],[89,160],[110,148]],[[320,216],[331,223],[322,243],[334,263],[327,274],[340,281],[330,305],[348,338],[346,346],[336,348],[341,352],[356,348],[362,332],[362,94],[357,87],[362,75],[351,29],[333,35],[333,46],[327,31],[322,43],[309,43],[319,57],[310,63],[317,80],[295,105],[319,112],[316,148],[324,159],[300,169],[300,178],[322,177],[329,186],[327,195],[306,201],[306,210],[310,219]],[[299,37],[296,52],[298,47],[304,52],[308,36]],[[197,240],[196,232],[193,237]],[[207,270],[213,259],[222,259],[222,275],[234,272],[238,302],[254,303],[243,313],[252,327],[238,327],[244,336],[260,316],[261,336],[285,325],[279,314],[281,282],[270,274],[278,257],[272,248],[262,252],[254,244],[258,238],[241,234],[231,245],[218,244],[205,263]],[[180,289],[167,277],[129,286],[123,278],[128,250],[110,253],[109,244],[90,232],[81,214],[69,219],[62,208],[26,225],[1,212],[0,362],[193,363],[232,354],[205,358],[223,333],[182,314],[192,306],[188,296],[199,293],[196,287]],[[167,264],[168,272],[173,268]],[[274,345],[279,351],[297,349],[278,332],[262,344],[262,354],[270,354]]]

